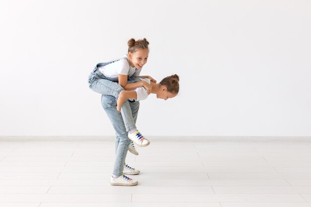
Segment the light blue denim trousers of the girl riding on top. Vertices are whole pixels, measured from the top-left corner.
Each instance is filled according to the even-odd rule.
[[[135,80],[134,77],[129,77],[128,82],[133,82]],[[107,78],[105,77],[97,68],[91,72],[88,77],[89,88],[93,91],[103,94],[103,95],[110,95],[118,99],[119,94],[124,88],[118,83],[118,78]],[[120,112],[118,112],[120,113]],[[126,100],[122,107],[121,107],[121,114],[125,124],[126,131],[130,131],[136,128],[131,107],[129,101]]]

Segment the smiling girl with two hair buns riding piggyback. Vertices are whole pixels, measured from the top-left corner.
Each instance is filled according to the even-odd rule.
[[[128,54],[110,61],[99,63],[88,77],[90,89],[103,95],[110,95],[117,100],[122,90],[133,90],[138,87],[145,87],[148,94],[151,93],[152,86],[146,81],[128,82],[136,77],[150,78],[150,76],[139,76],[141,69],[147,63],[149,55],[149,42],[143,40],[135,41],[133,38],[128,41]],[[121,86],[121,87],[118,87]],[[129,102],[126,100],[121,107],[122,118],[129,132],[128,137],[139,146],[148,146],[150,141],[146,139],[136,128]]]

